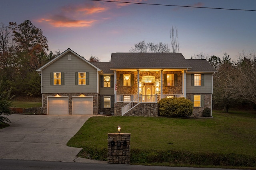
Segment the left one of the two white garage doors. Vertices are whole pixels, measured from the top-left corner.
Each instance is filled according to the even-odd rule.
[[[68,115],[68,97],[48,97],[49,115]]]

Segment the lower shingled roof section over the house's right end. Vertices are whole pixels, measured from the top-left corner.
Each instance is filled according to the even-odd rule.
[[[192,67],[188,72],[216,72],[217,70],[206,60],[201,59],[190,59],[187,62]]]

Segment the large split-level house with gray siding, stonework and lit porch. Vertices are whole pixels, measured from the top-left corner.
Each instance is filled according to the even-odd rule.
[[[90,63],[71,49],[36,70],[46,114],[158,116],[162,98],[187,98],[192,117],[212,108],[212,74],[206,60],[181,53],[112,53]]]

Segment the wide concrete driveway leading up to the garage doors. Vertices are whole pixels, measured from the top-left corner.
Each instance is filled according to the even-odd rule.
[[[78,158],[82,148],[66,146],[92,116],[99,115],[10,115],[10,126],[0,129],[0,158],[106,163]]]

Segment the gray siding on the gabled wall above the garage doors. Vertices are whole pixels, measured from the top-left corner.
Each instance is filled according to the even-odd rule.
[[[72,60],[68,60],[68,55],[72,56]],[[64,85],[50,85],[51,72],[64,72]],[[89,85],[75,85],[75,72],[89,72]],[[97,74],[96,68],[67,53],[42,70],[42,93],[96,93]]]

